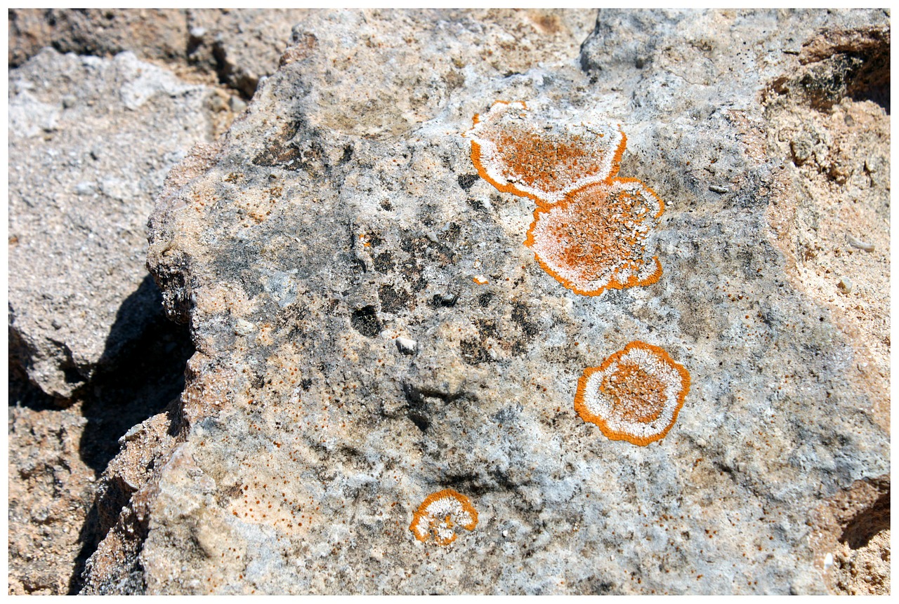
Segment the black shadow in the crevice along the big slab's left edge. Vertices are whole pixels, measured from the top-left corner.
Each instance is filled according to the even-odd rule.
[[[135,331],[137,325],[142,327],[139,332]],[[98,475],[120,451],[119,439],[131,427],[165,410],[174,412],[169,404],[181,396],[184,370],[194,352],[189,329],[165,319],[162,294],[149,275],[122,302],[106,350],[115,352],[104,352],[101,369],[80,393],[87,420],[80,442],[81,459]],[[69,593],[81,590],[87,558],[129,501],[130,493],[125,490],[119,497],[93,502],[79,535],[82,548],[69,580]]]

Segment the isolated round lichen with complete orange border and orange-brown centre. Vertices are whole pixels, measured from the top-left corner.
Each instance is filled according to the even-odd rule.
[[[574,410],[613,441],[646,445],[671,430],[690,373],[659,346],[631,342],[577,381]]]

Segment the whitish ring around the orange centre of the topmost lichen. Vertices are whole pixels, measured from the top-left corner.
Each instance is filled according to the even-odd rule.
[[[530,187],[522,182],[521,179],[515,178],[514,167],[508,166],[502,161],[499,148],[494,141],[490,138],[479,136],[479,134],[490,128],[502,127],[505,123],[524,121],[527,112],[527,106],[521,101],[496,101],[489,111],[479,116],[474,127],[463,133],[463,136],[467,136],[478,144],[480,147],[481,167],[490,180],[500,185],[501,190],[503,188],[515,188],[528,197],[538,199],[551,206],[562,201],[568,193],[594,183],[603,182],[617,173],[616,163],[620,160],[620,152],[623,151],[619,147],[625,141],[624,132],[619,127],[599,122],[553,121],[551,125],[548,125],[548,128],[538,128],[535,122],[530,122],[536,135],[539,135],[541,131],[548,131],[552,134],[564,133],[567,136],[592,135],[597,140],[606,143],[602,152],[600,170],[591,176],[572,179],[564,188],[559,188],[555,191]]]

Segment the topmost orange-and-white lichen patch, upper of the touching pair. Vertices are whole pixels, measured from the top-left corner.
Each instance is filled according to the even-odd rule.
[[[471,139],[471,161],[481,178],[539,206],[615,176],[628,142],[610,124],[530,120],[520,101],[496,101],[474,123],[464,136]]]

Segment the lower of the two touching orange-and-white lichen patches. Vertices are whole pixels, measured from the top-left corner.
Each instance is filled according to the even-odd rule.
[[[538,207],[524,244],[574,293],[654,284],[662,263],[646,245],[663,211],[662,200],[639,180],[610,179]]]

